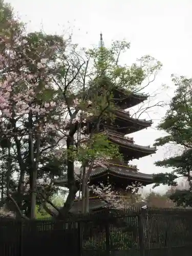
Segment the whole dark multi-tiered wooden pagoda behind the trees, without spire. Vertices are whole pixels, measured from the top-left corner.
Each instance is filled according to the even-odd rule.
[[[123,156],[123,160],[111,159],[108,162],[108,168],[97,166],[92,170],[90,175],[89,185],[99,185],[100,183],[111,184],[115,190],[125,191],[127,186],[133,183],[140,183],[143,186],[152,183],[152,175],[140,173],[136,165],[129,164],[133,159],[154,154],[155,147],[137,145],[134,139],[127,137],[130,133],[140,131],[150,127],[152,121],[145,119],[135,119],[131,117],[129,109],[147,99],[147,95],[139,93],[127,93],[123,89],[114,89],[114,108],[112,110],[114,120],[111,124],[104,122],[100,123],[99,133],[104,133],[108,139],[118,145],[119,152]],[[92,122],[87,123],[88,132],[91,131]],[[126,136],[125,136],[126,135]],[[80,183],[80,168],[75,168],[75,177],[77,184]],[[55,180],[55,184],[67,187],[66,177]],[[107,202],[101,197],[94,195],[90,191],[89,209],[90,211],[98,210],[106,207]],[[75,200],[71,212],[78,212],[79,202]]]

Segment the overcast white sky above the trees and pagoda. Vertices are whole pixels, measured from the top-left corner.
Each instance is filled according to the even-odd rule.
[[[162,83],[170,89],[159,95],[167,101],[173,96],[171,74],[191,76],[192,59],[192,1],[191,0],[10,0],[19,17],[28,23],[29,31],[44,29],[47,33],[63,34],[74,27],[73,40],[89,47],[98,45],[100,31],[105,46],[112,40],[126,39],[131,42],[124,62],[132,63],[150,54],[163,63],[162,71],[148,89],[155,91]],[[148,91],[147,92],[151,92]],[[158,113],[157,113],[158,112]],[[165,109],[151,113],[155,124]],[[153,145],[162,133],[152,128],[134,133],[137,144]],[[155,155],[135,161],[143,173],[165,172],[153,163],[167,154],[160,149]],[[162,189],[162,188],[159,188]]]

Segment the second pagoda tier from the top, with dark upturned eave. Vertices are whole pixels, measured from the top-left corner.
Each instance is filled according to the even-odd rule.
[[[115,116],[114,120],[106,120],[106,118],[101,120],[99,131],[104,131],[110,127],[110,130],[126,135],[141,131],[152,125],[152,120],[146,121],[145,119],[133,118],[130,116],[129,111],[113,108],[111,112]],[[97,120],[94,121],[94,117],[92,117],[87,119],[87,123],[82,124],[88,126],[86,133],[90,133],[92,129],[95,129],[96,122]]]

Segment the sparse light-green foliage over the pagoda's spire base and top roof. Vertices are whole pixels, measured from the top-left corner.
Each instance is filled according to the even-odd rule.
[[[137,62],[133,63],[131,67],[122,66],[119,63],[119,58],[121,53],[129,48],[129,42],[114,41],[110,48],[101,47],[89,50],[87,55],[93,59],[94,71],[102,75],[104,73],[113,87],[133,92],[141,89],[141,83],[145,78],[160,70],[162,64],[155,58],[145,55],[137,59]]]

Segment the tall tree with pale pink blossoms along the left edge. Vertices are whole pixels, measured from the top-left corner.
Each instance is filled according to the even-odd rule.
[[[27,35],[2,1],[0,16],[1,153],[7,162],[2,168],[2,202],[6,194],[20,215],[27,204],[27,215],[34,218],[37,178],[46,174],[45,156],[54,159],[54,146],[61,137],[57,131],[63,127],[62,104],[50,75],[58,69],[58,49],[65,49],[65,42],[54,35]],[[37,172],[39,164],[43,174]]]

